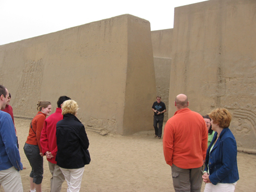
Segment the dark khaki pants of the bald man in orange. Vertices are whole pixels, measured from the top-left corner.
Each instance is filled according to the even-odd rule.
[[[202,187],[202,167],[181,169],[172,165],[172,181],[176,192],[200,192]]]

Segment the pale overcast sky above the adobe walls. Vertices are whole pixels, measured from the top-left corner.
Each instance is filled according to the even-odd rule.
[[[151,31],[174,26],[174,7],[205,0],[0,0],[0,45],[131,14]]]

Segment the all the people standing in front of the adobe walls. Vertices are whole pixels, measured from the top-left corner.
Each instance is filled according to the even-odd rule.
[[[23,169],[18,139],[10,112],[10,97],[0,85],[0,183],[5,191],[23,191],[19,170]],[[175,191],[234,191],[239,180],[237,144],[229,129],[232,116],[226,108],[216,108],[201,116],[188,108],[188,97],[177,95],[176,112],[164,127],[163,152],[171,166]],[[7,109],[7,112],[3,110]],[[38,113],[29,125],[24,153],[30,162],[30,191],[41,192],[43,156],[52,174],[51,191],[60,191],[64,180],[67,191],[79,191],[84,166],[89,164],[89,140],[83,124],[77,119],[78,105],[67,96],[57,101],[55,113],[49,116],[49,101],[38,102]],[[12,110],[11,110],[12,111]],[[155,137],[161,139],[166,106],[161,97],[152,105]],[[49,116],[46,119],[46,116]],[[204,170],[202,170],[205,165]],[[11,183],[11,185],[10,185]]]

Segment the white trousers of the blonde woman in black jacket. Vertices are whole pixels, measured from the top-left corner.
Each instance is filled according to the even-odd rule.
[[[79,169],[64,169],[60,168],[61,172],[65,176],[65,180],[68,183],[67,192],[80,191],[82,174],[84,173],[84,167]]]

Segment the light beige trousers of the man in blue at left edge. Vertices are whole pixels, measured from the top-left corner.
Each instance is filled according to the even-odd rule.
[[[5,192],[23,192],[19,171],[14,166],[0,171],[0,183]]]

